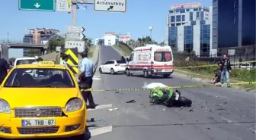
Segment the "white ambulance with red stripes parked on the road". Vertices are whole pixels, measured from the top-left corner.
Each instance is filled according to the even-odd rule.
[[[127,60],[126,75],[143,74],[144,77],[162,75],[168,78],[174,72],[173,54],[168,45],[146,45],[134,48]]]

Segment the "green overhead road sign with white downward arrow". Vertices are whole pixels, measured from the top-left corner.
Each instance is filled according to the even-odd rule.
[[[55,11],[55,0],[19,0],[19,10]]]

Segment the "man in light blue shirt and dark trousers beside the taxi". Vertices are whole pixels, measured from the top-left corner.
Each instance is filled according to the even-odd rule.
[[[88,88],[91,89],[92,86],[92,76],[94,75],[93,73],[93,68],[94,68],[94,64],[93,62],[88,59],[88,51],[84,51],[82,52],[82,62],[81,62],[81,66],[80,66],[80,73],[78,74],[78,79],[80,80],[80,82],[82,84],[86,84],[88,86]],[[89,101],[89,105],[87,106],[87,108],[95,108],[96,104],[94,104],[94,99],[93,96],[91,94],[91,91],[83,91],[82,95],[85,99],[85,102],[87,102],[87,100]]]

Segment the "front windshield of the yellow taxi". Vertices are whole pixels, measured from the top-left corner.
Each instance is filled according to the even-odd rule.
[[[19,68],[11,72],[4,87],[72,88],[74,81],[68,70],[50,68]]]

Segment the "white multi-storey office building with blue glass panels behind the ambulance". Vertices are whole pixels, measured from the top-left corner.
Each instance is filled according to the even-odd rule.
[[[178,51],[195,52],[201,57],[216,53],[212,49],[212,7],[200,3],[171,5],[168,14],[168,45]]]

